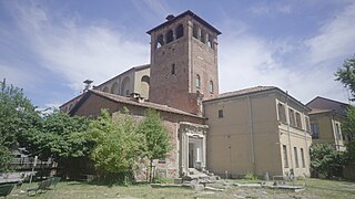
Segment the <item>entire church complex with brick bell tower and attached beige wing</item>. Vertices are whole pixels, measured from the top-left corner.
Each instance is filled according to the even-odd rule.
[[[146,33],[151,36],[150,64],[85,90],[60,109],[97,116],[102,108],[114,115],[126,107],[138,117],[146,108],[156,109],[173,146],[168,158],[154,163],[162,177],[196,170],[226,171],[230,177],[247,171],[310,175],[310,109],[277,87],[220,94],[221,32],[216,28],[189,10],[168,15]],[[280,104],[285,111],[281,115]]]

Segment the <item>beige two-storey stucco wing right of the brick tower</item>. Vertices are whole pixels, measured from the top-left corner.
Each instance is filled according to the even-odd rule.
[[[308,109],[293,97],[276,87],[260,86],[203,105],[210,127],[209,170],[231,177],[285,176],[292,170],[295,176],[310,176]]]

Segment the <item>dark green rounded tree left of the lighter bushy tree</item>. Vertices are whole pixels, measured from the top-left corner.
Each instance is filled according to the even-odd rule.
[[[71,117],[53,109],[44,113],[38,127],[26,134],[23,146],[39,159],[52,158],[68,175],[70,169],[74,169],[72,161],[89,154],[89,144],[82,135],[88,126],[89,119],[85,117]]]

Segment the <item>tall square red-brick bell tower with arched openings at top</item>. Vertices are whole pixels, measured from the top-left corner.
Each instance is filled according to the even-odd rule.
[[[202,100],[219,95],[217,35],[192,11],[168,15],[151,35],[150,101],[202,114]]]

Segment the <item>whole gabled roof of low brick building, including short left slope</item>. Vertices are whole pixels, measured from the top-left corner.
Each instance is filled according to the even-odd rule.
[[[133,106],[140,106],[140,107],[144,107],[144,108],[153,108],[156,111],[162,111],[162,112],[169,112],[169,113],[173,113],[173,114],[180,114],[180,115],[185,115],[185,116],[191,116],[191,117],[197,117],[197,118],[203,118],[201,116],[194,115],[194,114],[190,114],[187,112],[183,112],[181,109],[176,109],[173,107],[169,107],[165,105],[161,105],[161,104],[155,104],[155,103],[151,103],[151,102],[135,102],[132,101],[130,97],[125,97],[125,96],[121,96],[121,95],[115,95],[115,94],[111,94],[111,93],[105,93],[105,92],[101,92],[101,91],[97,91],[97,90],[89,90],[88,92],[84,93],[84,96],[77,103],[77,105],[70,111],[71,115],[74,115],[74,113],[79,109],[79,107],[90,97],[90,95],[98,95],[101,96],[103,98],[106,98],[111,102],[114,103],[120,103],[120,104],[128,104],[128,105],[133,105]]]

